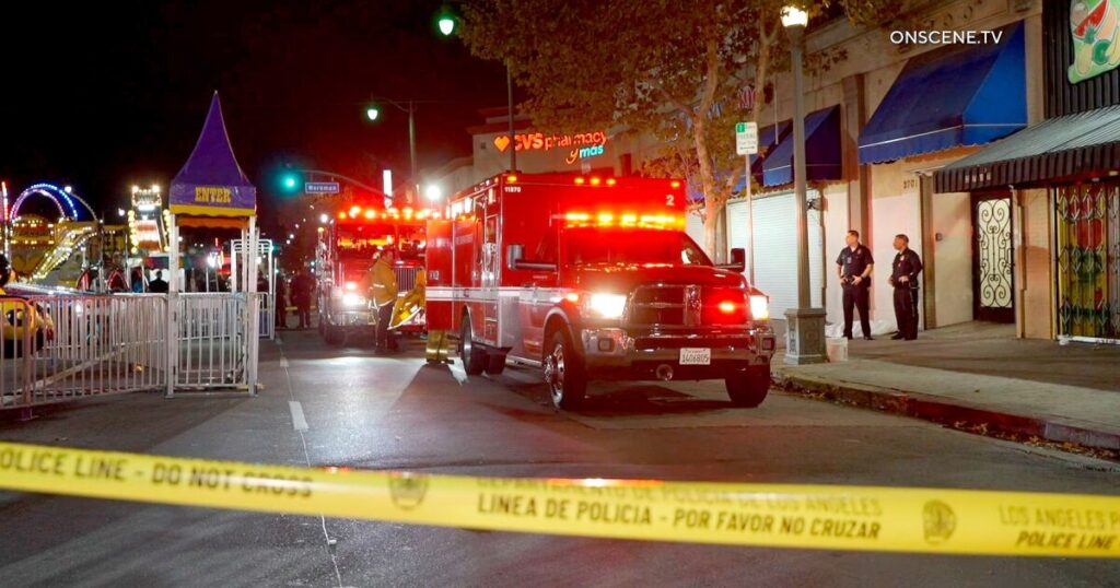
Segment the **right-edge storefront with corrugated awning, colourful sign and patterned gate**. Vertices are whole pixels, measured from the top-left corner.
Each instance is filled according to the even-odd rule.
[[[1023,335],[1120,343],[1120,2],[1046,0],[1040,40],[1045,120],[935,190],[1009,203]]]

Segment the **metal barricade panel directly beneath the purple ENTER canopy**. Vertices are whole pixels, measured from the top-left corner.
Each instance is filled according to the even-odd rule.
[[[254,392],[261,295],[178,293],[176,390]]]

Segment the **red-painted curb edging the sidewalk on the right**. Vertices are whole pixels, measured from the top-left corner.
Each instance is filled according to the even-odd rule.
[[[1120,431],[1091,429],[1061,417],[1014,414],[933,394],[836,382],[780,371],[775,371],[773,380],[776,385],[793,394],[823,396],[844,404],[903,414],[956,429],[978,428],[987,433],[1037,437],[1052,442],[1120,451]]]

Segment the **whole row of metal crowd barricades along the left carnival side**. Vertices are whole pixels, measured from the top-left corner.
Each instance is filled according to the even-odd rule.
[[[177,316],[169,315],[169,299]],[[169,395],[255,393],[260,299],[231,292],[2,296],[0,410],[161,389]]]

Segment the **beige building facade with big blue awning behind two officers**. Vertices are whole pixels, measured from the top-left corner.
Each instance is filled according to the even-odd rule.
[[[1021,320],[1010,200],[963,189],[935,193],[933,176],[1042,120],[1042,2],[935,2],[925,10],[923,29],[987,31],[988,43],[899,45],[892,31],[846,20],[805,37],[810,55],[847,55],[806,74],[804,96],[810,283],[813,305],[825,308],[832,324],[842,321],[836,258],[849,228],[860,232],[877,262],[876,330],[896,326],[886,278],[899,233],[925,262],[922,328]],[[771,123],[759,130],[760,147],[768,149],[752,164],[760,187],[749,203],[754,222],[746,221],[746,198],[732,199],[727,231],[729,246],[754,245],[755,281],[781,317],[796,300],[797,211],[788,172],[791,76],[777,76],[774,86],[775,100],[760,116]]]

